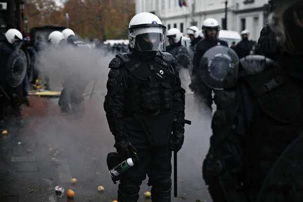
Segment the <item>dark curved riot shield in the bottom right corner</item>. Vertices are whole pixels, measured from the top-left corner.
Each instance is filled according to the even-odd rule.
[[[302,147],[303,133],[286,147],[274,163],[260,189],[257,202],[303,201]]]

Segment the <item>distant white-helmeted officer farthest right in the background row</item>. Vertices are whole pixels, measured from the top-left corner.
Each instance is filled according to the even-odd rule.
[[[235,52],[239,59],[253,55],[255,52],[256,41],[248,40],[249,33],[247,29],[240,33],[242,40],[235,47]]]

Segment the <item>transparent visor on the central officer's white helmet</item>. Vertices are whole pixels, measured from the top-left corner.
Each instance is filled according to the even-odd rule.
[[[128,30],[132,46],[137,51],[165,51],[166,27],[162,25],[146,25],[132,27]]]

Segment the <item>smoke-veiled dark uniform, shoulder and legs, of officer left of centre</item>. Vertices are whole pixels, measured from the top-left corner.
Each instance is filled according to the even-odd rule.
[[[84,46],[85,43],[78,37],[71,35],[67,38],[67,43],[75,48]],[[74,111],[80,116],[84,113],[83,93],[89,80],[83,78],[79,73],[70,73],[63,82],[63,90],[59,98],[59,107],[62,112]]]

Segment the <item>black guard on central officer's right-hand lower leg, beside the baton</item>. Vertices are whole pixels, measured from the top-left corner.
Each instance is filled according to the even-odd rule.
[[[149,183],[151,186],[151,201],[153,202],[171,202],[172,180],[171,178],[162,178]]]

